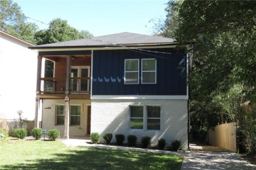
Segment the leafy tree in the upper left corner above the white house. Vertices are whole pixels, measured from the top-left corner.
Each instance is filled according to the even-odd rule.
[[[29,42],[35,42],[33,35],[38,27],[27,22],[20,6],[12,0],[0,0],[0,29]]]

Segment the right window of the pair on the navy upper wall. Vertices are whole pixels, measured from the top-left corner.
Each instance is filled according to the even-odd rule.
[[[142,59],[142,84],[156,84],[156,59]]]

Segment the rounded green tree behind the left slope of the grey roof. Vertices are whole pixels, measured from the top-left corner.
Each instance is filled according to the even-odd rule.
[[[35,33],[37,44],[49,44],[54,42],[71,41],[75,39],[93,37],[89,31],[78,31],[68,25],[66,20],[56,18],[50,22],[49,28]]]

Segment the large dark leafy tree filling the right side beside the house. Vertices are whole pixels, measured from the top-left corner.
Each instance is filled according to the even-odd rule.
[[[238,139],[256,151],[255,109],[243,109],[245,101],[256,101],[256,1],[169,1],[165,10],[160,35],[181,46],[195,42],[188,81],[192,126],[235,121]]]

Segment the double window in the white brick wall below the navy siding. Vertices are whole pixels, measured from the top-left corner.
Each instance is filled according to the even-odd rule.
[[[160,106],[130,106],[130,129],[160,130]]]

